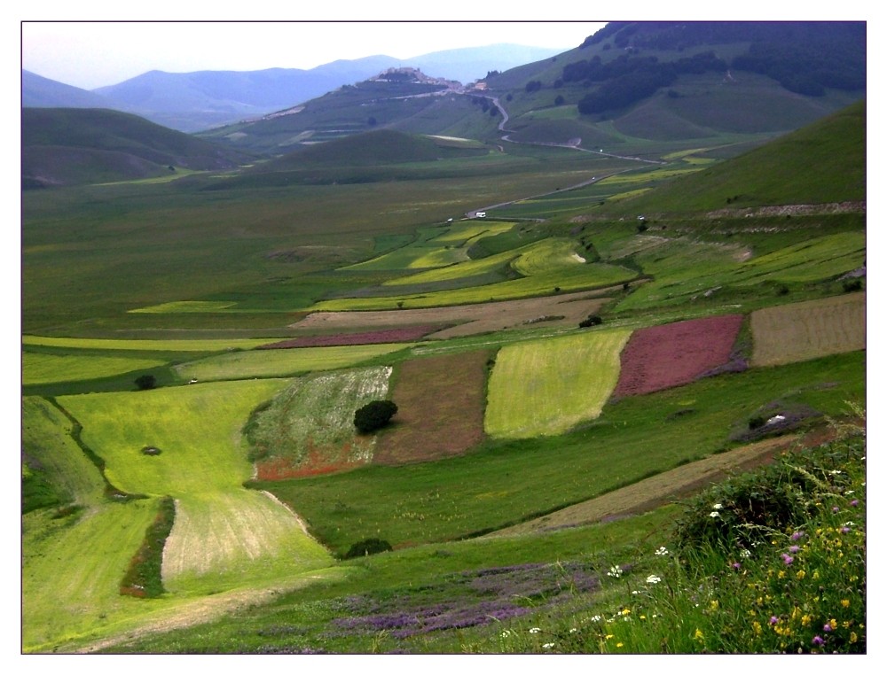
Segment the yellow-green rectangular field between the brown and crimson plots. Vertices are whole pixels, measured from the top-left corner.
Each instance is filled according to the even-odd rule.
[[[484,431],[531,438],[598,415],[616,387],[631,330],[601,330],[503,347],[490,376]]]

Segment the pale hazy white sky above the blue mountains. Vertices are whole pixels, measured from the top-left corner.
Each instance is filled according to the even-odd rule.
[[[569,50],[605,24],[553,21],[22,21],[21,67],[96,89],[150,70],[313,68],[494,43]]]

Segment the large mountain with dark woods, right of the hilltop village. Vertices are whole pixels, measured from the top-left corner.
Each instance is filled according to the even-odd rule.
[[[611,22],[485,86],[513,140],[613,148],[800,128],[865,97],[866,67],[862,21]]]

